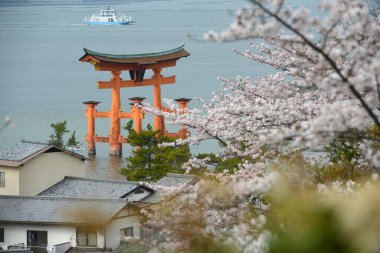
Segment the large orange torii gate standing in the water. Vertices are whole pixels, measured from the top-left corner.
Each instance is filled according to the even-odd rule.
[[[184,49],[184,44],[177,48],[147,54],[128,54],[114,55],[104,54],[85,49],[85,54],[79,59],[82,62],[89,62],[95,66],[97,71],[110,71],[112,78],[110,81],[99,81],[98,89],[112,89],[112,104],[109,112],[99,112],[95,107],[100,103],[97,101],[83,102],[87,106],[86,117],[88,119],[88,133],[86,141],[88,144],[88,154],[96,154],[96,142],[109,142],[110,155],[121,156],[122,143],[128,142],[126,138],[121,136],[120,119],[132,119],[136,132],[142,130],[142,119],[144,112],[136,103],[141,103],[144,98],[133,97],[132,110],[130,112],[121,111],[120,89],[128,87],[153,86],[153,105],[155,109],[165,110],[161,103],[161,85],[174,84],[175,76],[164,77],[161,75],[162,69],[174,67],[182,57],[187,57],[190,54]],[[153,76],[145,78],[145,71],[151,69]],[[131,80],[122,80],[120,74],[122,71],[129,71]],[[176,99],[180,108],[187,108],[187,103],[190,99]],[[95,134],[95,118],[110,118],[110,135],[109,137],[101,137]],[[167,133],[165,130],[164,119],[160,116],[154,116],[154,130],[159,130],[161,134],[165,134],[175,138],[185,138],[187,135],[186,129],[181,129],[178,133]]]

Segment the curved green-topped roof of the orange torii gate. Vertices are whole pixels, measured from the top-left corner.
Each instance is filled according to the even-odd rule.
[[[114,62],[114,63],[137,63],[137,64],[152,64],[160,61],[179,59],[187,57],[190,54],[184,49],[185,44],[176,48],[156,52],[156,53],[143,53],[143,54],[107,54],[91,51],[84,48],[85,55],[79,60],[85,61],[87,56],[91,56],[99,61]]]

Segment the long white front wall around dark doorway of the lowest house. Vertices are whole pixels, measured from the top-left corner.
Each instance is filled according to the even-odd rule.
[[[71,242],[71,238],[76,236],[75,226],[0,224],[0,227],[4,228],[4,243],[8,246],[27,245],[27,230],[47,231],[48,245]]]

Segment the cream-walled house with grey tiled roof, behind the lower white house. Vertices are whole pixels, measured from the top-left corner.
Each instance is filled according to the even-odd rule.
[[[34,196],[65,176],[82,177],[86,159],[53,145],[21,141],[0,151],[0,195]]]

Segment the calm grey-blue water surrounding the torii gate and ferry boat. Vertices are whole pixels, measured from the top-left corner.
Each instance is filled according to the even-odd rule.
[[[147,53],[174,48],[185,43],[191,56],[181,59],[164,75],[177,75],[175,85],[162,88],[163,97],[210,98],[220,88],[218,76],[252,77],[268,71],[248,61],[232,49],[245,49],[238,43],[204,43],[208,30],[221,31],[233,20],[234,11],[244,4],[239,0],[126,1],[112,4],[118,12],[137,22],[128,26],[88,26],[85,16],[106,8],[105,3],[41,5],[0,5],[0,126],[5,117],[12,124],[0,132],[0,149],[21,139],[46,141],[52,133],[50,124],[67,120],[85,143],[87,121],[83,101],[97,100],[98,110],[108,111],[110,90],[98,90],[96,82],[109,80],[108,72],[96,72],[78,59],[83,48],[106,53]],[[152,101],[152,87],[124,89],[122,107],[129,110],[129,97],[142,96]],[[198,106],[192,102],[191,107]],[[151,118],[147,117],[146,124]],[[109,121],[97,119],[98,135],[108,135]],[[193,153],[210,152],[217,146],[205,143],[192,148]],[[124,159],[109,159],[108,145],[97,144],[97,159],[88,163],[89,177],[118,178],[117,168]],[[130,153],[128,145],[123,155]]]

